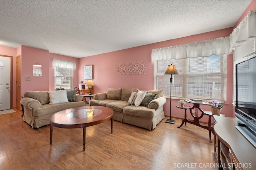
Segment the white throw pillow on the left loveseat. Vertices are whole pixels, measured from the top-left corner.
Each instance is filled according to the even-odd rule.
[[[67,90],[56,90],[48,93],[50,98],[49,104],[68,103]]]

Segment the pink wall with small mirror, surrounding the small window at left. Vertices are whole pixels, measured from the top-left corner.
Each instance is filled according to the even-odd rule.
[[[21,68],[21,95],[26,91],[53,91],[54,90],[54,67],[52,58],[75,61],[78,59],[64,55],[49,53],[47,50],[36,49],[22,45],[22,68]],[[42,76],[33,76],[33,64],[42,65]],[[30,77],[30,81],[26,81]],[[78,81],[78,69],[74,69],[74,81]]]

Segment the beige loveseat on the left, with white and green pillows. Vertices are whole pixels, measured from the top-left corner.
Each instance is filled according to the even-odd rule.
[[[26,92],[24,98],[20,100],[23,120],[32,128],[50,125],[50,117],[54,113],[64,109],[85,106],[82,100],[83,97],[76,94],[76,90]]]

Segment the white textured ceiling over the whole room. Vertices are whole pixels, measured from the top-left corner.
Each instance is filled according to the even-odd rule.
[[[233,27],[252,0],[0,0],[0,45],[87,57]]]

